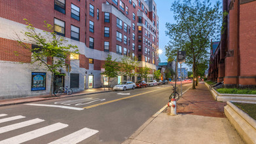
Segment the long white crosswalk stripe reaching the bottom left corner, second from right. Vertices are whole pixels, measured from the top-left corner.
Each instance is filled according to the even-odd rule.
[[[9,139],[5,139],[3,141],[0,141],[0,143],[24,143],[24,142],[29,141],[31,139],[41,137],[42,135],[50,134],[51,132],[61,130],[62,128],[66,128],[67,126],[69,126],[69,125],[62,124],[62,123],[58,122],[58,123],[52,124],[50,126],[45,126],[43,128],[39,128],[37,130],[27,132],[25,134],[10,137]]]

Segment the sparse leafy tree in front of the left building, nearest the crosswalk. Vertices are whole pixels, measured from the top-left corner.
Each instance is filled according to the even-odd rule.
[[[45,22],[45,27],[48,31],[39,33],[35,27],[26,19],[26,32],[21,31],[25,36],[21,39],[18,34],[18,45],[31,52],[31,63],[37,63],[39,67],[42,65],[50,71],[52,77],[50,82],[50,96],[53,93],[54,75],[65,75],[59,71],[62,67],[69,65],[65,64],[65,60],[70,54],[79,54],[77,46],[65,45],[67,40],[64,37],[56,35],[54,27]],[[31,48],[31,44],[37,45],[37,48]],[[50,62],[47,59],[50,58]]]

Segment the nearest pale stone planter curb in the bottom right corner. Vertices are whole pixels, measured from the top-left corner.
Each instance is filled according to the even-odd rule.
[[[224,107],[226,117],[246,143],[256,143],[256,120],[230,101]]]

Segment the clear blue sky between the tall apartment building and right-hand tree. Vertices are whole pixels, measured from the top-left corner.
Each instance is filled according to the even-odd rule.
[[[203,1],[203,0],[202,0]],[[218,0],[210,0],[212,4],[215,4]],[[174,13],[170,10],[174,0],[155,0],[157,15],[159,17],[159,49],[162,50],[162,54],[159,54],[161,62],[167,62],[167,57],[165,56],[164,46],[168,45],[170,41],[169,37],[166,36],[166,22],[174,23]],[[187,68],[187,65],[184,65]]]

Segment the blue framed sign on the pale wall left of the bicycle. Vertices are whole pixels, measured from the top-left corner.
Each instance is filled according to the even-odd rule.
[[[32,73],[31,91],[46,90],[46,73]]]

